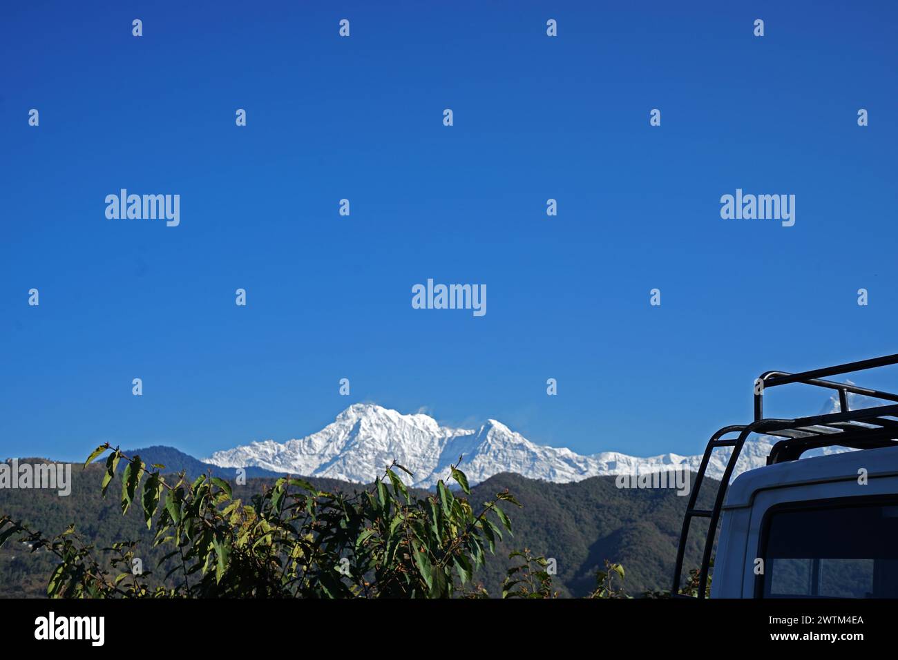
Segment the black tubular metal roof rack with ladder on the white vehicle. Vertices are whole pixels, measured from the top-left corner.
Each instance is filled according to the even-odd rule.
[[[674,565],[674,587],[671,594],[676,597],[680,591],[682,577],[682,561],[686,550],[686,541],[692,518],[709,518],[708,533],[705,537],[704,552],[699,568],[698,597],[704,598],[708,585],[708,571],[711,560],[711,550],[714,547],[714,537],[717,533],[720,511],[723,508],[726,488],[733,476],[735,464],[739,460],[745,439],[753,434],[765,436],[777,436],[783,438],[770,449],[767,464],[796,461],[802,453],[811,449],[828,446],[843,446],[851,449],[874,449],[876,447],[898,446],[898,403],[892,405],[876,406],[851,410],[848,402],[849,394],[862,394],[864,396],[886,401],[898,402],[898,394],[893,392],[879,392],[866,387],[858,387],[851,383],[834,383],[821,380],[827,376],[837,374],[849,374],[866,369],[898,364],[898,354],[883,357],[874,357],[869,360],[850,362],[847,365],[828,366],[823,369],[814,369],[800,374],[788,374],[782,371],[769,371],[761,374],[754,382],[754,421],[751,424],[723,427],[708,441],[705,453],[701,457],[699,472],[695,485],[691,488],[689,503],[686,506],[686,515],[683,516],[680,543],[677,547],[676,564]],[[803,383],[814,385],[839,392],[839,412],[815,415],[814,417],[794,419],[765,419],[763,416],[764,391],[779,385],[789,383]],[[735,437],[730,434],[738,434]],[[714,499],[714,508],[696,509],[696,501],[699,497],[701,482],[704,480],[705,471],[711,453],[718,447],[732,447],[726,462],[726,469],[718,485],[717,496]],[[689,596],[685,596],[689,597]]]

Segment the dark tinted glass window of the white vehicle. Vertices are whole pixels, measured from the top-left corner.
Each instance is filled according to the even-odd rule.
[[[766,539],[765,597],[898,597],[894,504],[775,511]]]

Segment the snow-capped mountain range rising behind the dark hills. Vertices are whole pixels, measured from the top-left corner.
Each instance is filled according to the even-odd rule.
[[[744,444],[736,474],[766,464],[773,438],[761,436]],[[720,479],[729,448],[716,450],[707,474]],[[698,471],[701,456],[664,453],[638,458],[625,453],[580,455],[565,447],[534,444],[501,422],[489,419],[475,430],[442,427],[424,414],[403,415],[374,404],[357,403],[311,436],[277,443],[254,442],[213,453],[205,462],[222,468],[257,466],[302,476],[330,477],[369,483],[393,460],[413,473],[409,485],[430,488],[446,479],[450,465],[459,466],[471,484],[516,472],[530,479],[568,483],[609,474],[643,474],[674,468]]]

